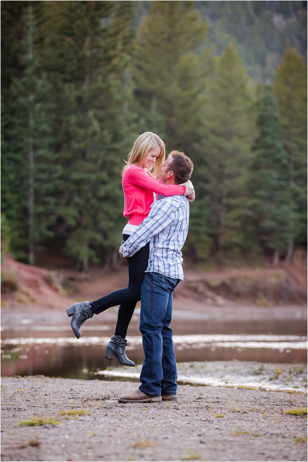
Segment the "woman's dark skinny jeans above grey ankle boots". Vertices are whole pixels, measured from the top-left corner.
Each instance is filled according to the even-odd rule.
[[[123,240],[128,239],[127,234],[123,234]],[[127,334],[128,325],[132,319],[137,302],[141,299],[141,286],[145,277],[145,270],[148,267],[150,253],[150,243],[147,243],[128,260],[128,286],[98,298],[91,302],[91,311],[98,315],[111,306],[120,305],[118,321],[116,323],[115,335],[124,338]]]

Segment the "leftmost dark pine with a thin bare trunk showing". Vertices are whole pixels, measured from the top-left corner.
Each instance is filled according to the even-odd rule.
[[[51,87],[37,51],[31,2],[22,10],[19,78],[12,77],[2,116],[2,209],[12,231],[12,249],[28,246],[34,264],[36,244],[52,235],[54,152],[51,149]],[[19,255],[20,256],[20,255]]]

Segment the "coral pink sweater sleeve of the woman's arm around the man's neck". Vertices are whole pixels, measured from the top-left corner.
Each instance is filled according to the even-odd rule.
[[[177,184],[163,184],[148,176],[144,170],[137,168],[130,168],[128,178],[131,182],[140,186],[141,188],[149,189],[153,193],[161,194],[163,196],[181,196],[185,193],[185,186]]]

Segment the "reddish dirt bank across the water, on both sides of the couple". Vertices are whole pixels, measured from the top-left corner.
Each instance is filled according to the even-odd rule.
[[[45,259],[46,269],[19,263],[6,255],[1,266],[2,306],[61,309],[73,301],[92,301],[127,286],[127,265],[108,273],[103,267],[93,265],[88,273],[80,273],[66,267],[62,260],[56,264],[50,258]],[[282,263],[277,268],[234,268],[220,272],[187,269],[174,295],[175,304],[189,304],[191,309],[200,303],[213,309],[227,304],[266,308],[303,304],[307,298],[306,255],[298,252],[293,263]]]

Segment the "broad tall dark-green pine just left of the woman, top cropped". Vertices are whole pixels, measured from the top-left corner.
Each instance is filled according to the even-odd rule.
[[[127,1],[45,7],[44,66],[54,87],[62,168],[55,234],[85,270],[121,242],[121,165],[134,136],[131,19]]]

